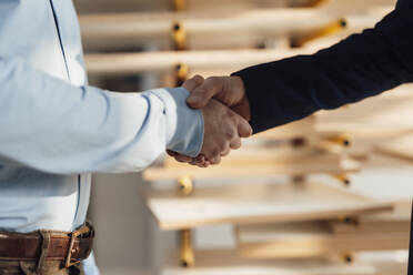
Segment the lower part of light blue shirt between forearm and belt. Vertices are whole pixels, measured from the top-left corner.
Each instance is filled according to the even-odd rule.
[[[0,231],[73,231],[84,223],[90,176],[0,169]]]

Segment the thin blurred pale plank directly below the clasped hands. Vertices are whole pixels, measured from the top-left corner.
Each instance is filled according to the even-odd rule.
[[[224,162],[225,160],[223,160],[223,163]],[[269,175],[306,175],[318,173],[342,174],[354,173],[360,171],[360,162],[346,157],[330,163],[322,162],[322,165],[311,159],[296,163],[280,163],[276,166],[272,164],[254,165],[253,163],[250,163],[250,165],[239,166],[220,164],[208,169],[201,169],[185,163],[180,163],[173,167],[154,166],[147,169],[143,172],[143,179],[145,181],[160,181],[177,180],[182,175],[191,176],[193,179],[228,179]]]

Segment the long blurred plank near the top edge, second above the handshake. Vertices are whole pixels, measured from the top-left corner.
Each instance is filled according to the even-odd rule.
[[[189,35],[244,32],[274,32],[284,29],[316,28],[338,19],[310,9],[274,9],[225,12],[107,13],[79,18],[85,38],[170,35],[174,22],[181,22]],[[304,24],[306,22],[306,24]],[[310,27],[309,27],[310,26]]]

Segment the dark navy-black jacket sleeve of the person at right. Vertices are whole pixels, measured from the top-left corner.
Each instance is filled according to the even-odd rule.
[[[413,81],[413,0],[313,55],[241,70],[255,133]]]

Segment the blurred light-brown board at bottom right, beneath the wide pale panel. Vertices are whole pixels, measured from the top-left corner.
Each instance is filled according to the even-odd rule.
[[[366,251],[407,249],[410,201],[392,203],[394,210],[351,221],[315,221],[236,226],[238,247],[246,258],[316,257]]]

